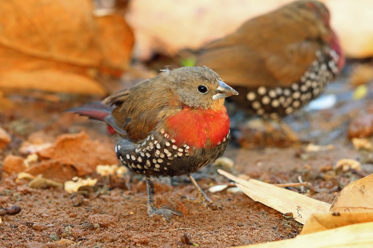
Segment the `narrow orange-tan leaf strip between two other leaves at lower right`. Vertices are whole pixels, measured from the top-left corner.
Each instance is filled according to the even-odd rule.
[[[301,234],[324,231],[357,223],[373,222],[373,212],[320,212],[308,218]]]

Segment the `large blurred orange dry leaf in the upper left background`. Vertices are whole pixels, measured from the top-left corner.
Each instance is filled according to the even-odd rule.
[[[123,17],[94,17],[90,0],[1,1],[0,23],[0,87],[102,95],[95,71],[119,75],[131,58]]]

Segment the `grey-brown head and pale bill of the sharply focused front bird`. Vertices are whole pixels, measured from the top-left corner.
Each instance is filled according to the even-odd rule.
[[[236,90],[225,84],[217,73],[206,66],[163,70],[161,77],[171,83],[176,98],[184,106],[220,109],[225,97],[238,95]]]

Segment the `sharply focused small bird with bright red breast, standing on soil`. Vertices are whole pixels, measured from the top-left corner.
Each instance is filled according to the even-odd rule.
[[[162,70],[102,103],[68,111],[103,120],[114,129],[120,163],[145,175],[148,215],[169,219],[181,213],[154,206],[150,177],[188,175],[197,200],[214,206],[191,173],[223,154],[230,138],[224,99],[237,94],[210,68],[181,67]]]

